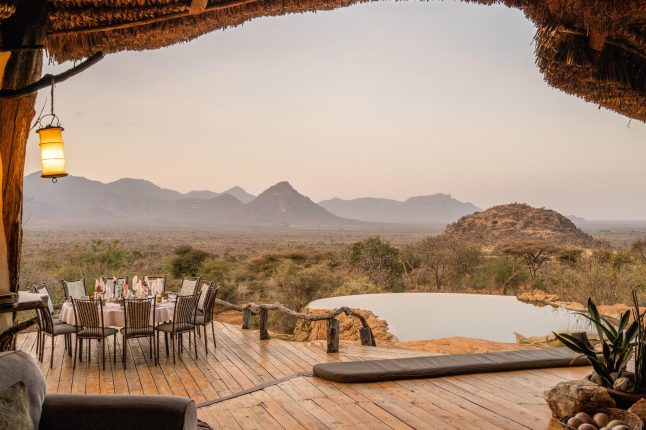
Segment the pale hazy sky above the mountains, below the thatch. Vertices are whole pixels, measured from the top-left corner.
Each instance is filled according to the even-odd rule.
[[[68,171],[646,219],[646,126],[549,87],[533,35],[502,6],[380,2],[109,55],[57,86]]]

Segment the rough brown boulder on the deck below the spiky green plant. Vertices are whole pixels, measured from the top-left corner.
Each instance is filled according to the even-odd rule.
[[[545,401],[556,418],[574,415],[584,409],[616,406],[608,390],[584,380],[559,382],[545,391]]]

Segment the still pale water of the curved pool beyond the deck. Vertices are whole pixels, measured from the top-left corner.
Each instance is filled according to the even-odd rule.
[[[588,321],[573,311],[535,306],[512,296],[449,293],[388,293],[340,296],[311,302],[311,309],[340,306],[371,310],[388,321],[399,340],[463,336],[515,342],[514,332],[544,336],[552,331],[589,330]]]

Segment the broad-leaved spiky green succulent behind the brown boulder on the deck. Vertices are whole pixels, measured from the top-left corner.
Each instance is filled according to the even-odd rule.
[[[637,308],[637,312],[639,312],[639,308]],[[629,324],[630,311],[626,311],[621,315],[619,323],[615,325],[599,314],[592,299],[588,299],[588,313],[580,313],[579,315],[590,320],[597,330],[601,340],[601,353],[570,334],[554,333],[554,335],[572,351],[584,355],[596,374],[599,375],[601,385],[612,388],[615,381],[626,371],[626,365],[633,356],[636,336],[638,333],[644,335],[640,324],[641,318],[637,316]],[[646,348],[642,345],[637,346],[638,351],[646,352]],[[646,368],[643,370],[646,372]]]

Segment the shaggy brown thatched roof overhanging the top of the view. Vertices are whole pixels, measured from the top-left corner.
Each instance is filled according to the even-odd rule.
[[[12,2],[0,0],[0,19]],[[368,0],[50,0],[56,61],[155,49],[261,16]],[[522,10],[537,27],[536,63],[552,86],[646,122],[646,0],[465,0]],[[3,7],[6,5],[6,7]]]

